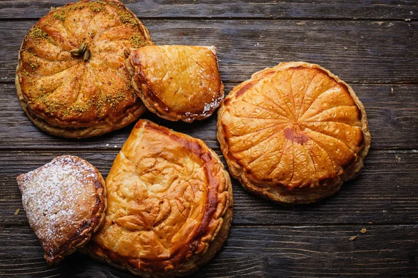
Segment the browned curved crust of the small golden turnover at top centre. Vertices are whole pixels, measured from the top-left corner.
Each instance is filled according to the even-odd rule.
[[[207,48],[212,51],[212,57],[215,59],[216,63],[218,63],[215,47]],[[146,108],[163,119],[174,122],[178,120],[183,122],[205,120],[210,117],[221,104],[221,101],[219,101],[217,106],[210,106],[209,110],[204,113],[203,111],[176,111],[166,104],[166,101],[160,97],[159,92],[155,92],[155,90],[153,90],[153,81],[151,80],[151,77],[153,76],[146,76],[144,73],[138,51],[132,51],[130,58],[127,58],[126,67],[132,76],[132,86],[139,97],[141,97],[141,100],[145,104]],[[224,83],[222,83],[219,70],[216,74],[213,74],[213,77],[215,77],[216,82],[219,84],[219,92],[217,92],[216,99],[224,97]]]

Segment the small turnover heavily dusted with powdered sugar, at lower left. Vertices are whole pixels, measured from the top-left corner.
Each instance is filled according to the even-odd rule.
[[[17,177],[31,228],[49,265],[59,263],[103,223],[106,187],[100,172],[77,156],[58,156]]]

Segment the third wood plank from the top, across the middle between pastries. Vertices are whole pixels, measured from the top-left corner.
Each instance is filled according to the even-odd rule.
[[[226,83],[226,94],[236,83]],[[418,149],[418,85],[359,85],[353,89],[366,106],[373,148]],[[392,92],[393,89],[393,92]],[[0,149],[109,149],[121,147],[132,129],[114,131],[98,138],[69,140],[50,136],[32,124],[20,108],[15,85],[0,84]],[[209,147],[219,148],[216,140],[216,115],[192,124],[169,122],[147,113],[144,117],[176,131],[201,138]],[[388,132],[390,130],[390,132]],[[13,140],[11,139],[13,138]]]

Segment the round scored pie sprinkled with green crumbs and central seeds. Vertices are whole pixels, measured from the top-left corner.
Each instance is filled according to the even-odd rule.
[[[42,17],[23,40],[17,95],[36,126],[85,138],[120,129],[146,111],[130,85],[124,49],[152,44],[116,0],[68,3]]]

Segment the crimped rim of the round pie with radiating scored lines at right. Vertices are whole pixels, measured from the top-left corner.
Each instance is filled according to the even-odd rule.
[[[239,165],[234,158],[229,156],[228,152],[228,144],[225,141],[224,138],[224,129],[222,127],[222,114],[225,111],[225,103],[228,101],[231,101],[236,97],[236,93],[239,91],[240,88],[247,85],[249,82],[261,79],[263,77],[263,74],[265,72],[269,72],[271,70],[280,71],[280,70],[286,70],[291,67],[308,67],[308,68],[316,68],[319,70],[322,70],[328,76],[330,76],[332,79],[334,79],[337,83],[343,85],[345,88],[347,88],[348,92],[350,92],[350,96],[355,101],[355,104],[359,108],[359,110],[362,113],[362,119],[360,122],[362,123],[362,131],[364,135],[364,145],[362,149],[357,154],[357,157],[355,158],[355,161],[350,163],[346,169],[343,170],[341,174],[338,174],[338,179],[327,186],[316,186],[314,188],[306,187],[306,188],[293,188],[292,190],[288,190],[284,186],[277,185],[277,186],[268,186],[263,185],[263,183],[254,183],[250,181],[247,178],[247,175],[245,174],[245,171],[243,170],[243,167]],[[279,65],[272,67],[272,68],[265,68],[264,70],[261,70],[259,72],[256,72],[251,75],[251,79],[244,81],[240,83],[239,85],[235,86],[230,92],[228,96],[225,97],[224,101],[222,102],[221,107],[219,108],[217,112],[217,140],[219,141],[219,145],[221,146],[222,153],[224,154],[226,163],[229,167],[229,172],[231,175],[240,181],[242,184],[242,187],[245,188],[245,190],[249,191],[250,193],[254,193],[255,195],[258,195],[260,197],[263,197],[265,199],[270,199],[273,202],[277,202],[278,204],[284,205],[284,206],[292,206],[295,204],[311,204],[314,202],[318,202],[320,199],[323,199],[325,197],[329,197],[331,195],[334,195],[339,191],[341,186],[343,185],[344,181],[348,181],[350,179],[354,179],[359,174],[359,171],[363,167],[364,158],[369,152],[370,149],[370,143],[371,143],[371,135],[369,132],[369,124],[367,122],[367,115],[366,111],[364,109],[364,106],[362,102],[359,100],[357,95],[355,95],[354,90],[348,85],[346,82],[341,81],[338,76],[332,74],[329,70],[326,70],[325,68],[321,67],[320,65],[306,63],[306,62],[284,62],[279,63]],[[262,186],[262,188],[260,187]],[[272,192],[270,192],[272,191]]]

